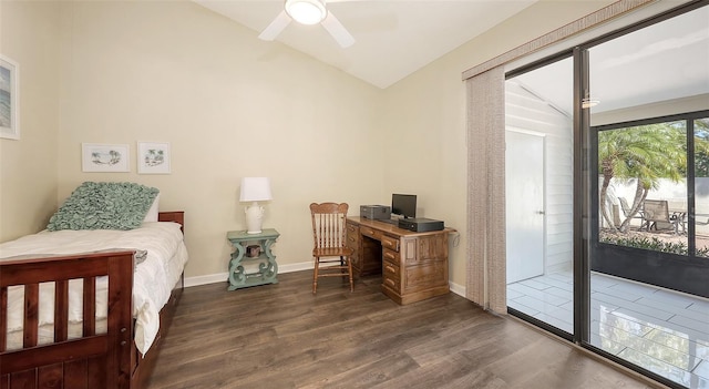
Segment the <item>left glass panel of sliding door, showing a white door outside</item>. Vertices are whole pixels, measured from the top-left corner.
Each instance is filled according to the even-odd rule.
[[[559,334],[574,328],[573,60],[505,82],[507,306]]]

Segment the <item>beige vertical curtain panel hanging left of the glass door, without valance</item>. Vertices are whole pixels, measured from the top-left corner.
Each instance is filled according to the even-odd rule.
[[[505,111],[503,66],[466,81],[467,239],[466,298],[506,314]]]

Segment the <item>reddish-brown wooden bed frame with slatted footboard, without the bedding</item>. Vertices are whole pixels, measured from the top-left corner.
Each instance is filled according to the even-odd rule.
[[[161,222],[184,226],[183,212],[161,212]],[[184,232],[184,229],[183,229]],[[138,389],[147,386],[162,337],[184,288],[184,274],[160,313],[160,331],[141,357],[133,341],[132,250],[27,257],[0,262],[0,389]],[[95,277],[109,276],[106,332],[95,334]],[[68,339],[69,279],[83,279],[83,336]],[[39,284],[55,283],[54,342],[38,346]],[[24,285],[23,347],[7,350],[8,287]]]

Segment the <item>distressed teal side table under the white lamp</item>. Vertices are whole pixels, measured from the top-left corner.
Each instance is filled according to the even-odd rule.
[[[260,234],[247,234],[246,231],[230,231],[226,234],[234,253],[229,260],[229,287],[236,290],[256,285],[278,284],[278,264],[270,246],[278,239],[278,232],[264,228]],[[258,245],[260,253],[256,257],[246,256],[246,247]]]

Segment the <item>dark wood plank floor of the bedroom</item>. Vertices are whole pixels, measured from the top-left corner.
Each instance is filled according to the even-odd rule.
[[[380,277],[278,276],[278,285],[185,289],[151,389],[648,388],[454,294],[399,306]]]

